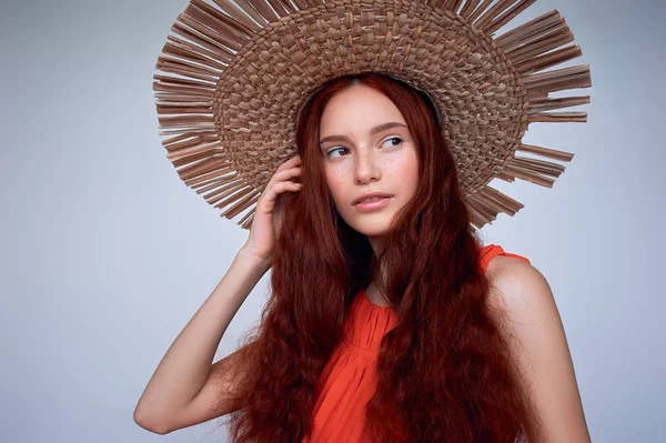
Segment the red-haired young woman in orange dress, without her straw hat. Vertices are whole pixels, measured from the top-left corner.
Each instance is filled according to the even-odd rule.
[[[324,83],[137,423],[163,434],[223,416],[234,442],[588,442],[549,286],[482,246],[442,129],[396,79]],[[256,333],[211,365],[270,268]]]

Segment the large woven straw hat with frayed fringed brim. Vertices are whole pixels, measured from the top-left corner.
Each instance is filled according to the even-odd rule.
[[[443,123],[474,225],[524,205],[494,178],[552,188],[573,154],[522,142],[529,123],[585,122],[589,103],[551,92],[592,85],[553,10],[494,33],[536,0],[191,0],[159,57],[160,134],[178,174],[226,219],[256,201],[297,153],[296,118],[326,80],[381,72],[425,91]],[[531,157],[517,155],[517,152]]]

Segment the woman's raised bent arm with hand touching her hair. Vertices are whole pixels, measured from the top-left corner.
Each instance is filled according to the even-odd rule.
[[[160,362],[134,410],[140,426],[165,434],[242,407],[233,389],[245,371],[251,346],[211,364],[224,331],[261,276],[271,268],[284,217],[283,194],[297,193],[301,158],[283,162],[256,203],[250,235],[213,293],[196,311]]]

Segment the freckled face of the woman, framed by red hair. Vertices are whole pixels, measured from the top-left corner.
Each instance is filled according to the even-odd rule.
[[[375,248],[374,241],[416,191],[418,158],[405,119],[380,91],[354,84],[324,108],[320,149],[326,184],[340,215],[367,235]],[[372,210],[354,204],[371,191],[391,197]]]

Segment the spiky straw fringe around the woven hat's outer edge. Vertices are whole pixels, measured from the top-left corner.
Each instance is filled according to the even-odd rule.
[[[490,37],[529,8],[535,0],[415,1],[418,2],[448,11],[447,16],[457,14],[477,31]],[[289,14],[325,3],[331,1],[190,0],[189,6],[173,23],[171,28],[173,34],[168,37],[158,59],[157,69],[169,73],[169,75],[155,74],[153,82],[160,135],[168,137],[162,141],[167,149],[167,158],[176,168],[179,177],[186,185],[202,194],[215,208],[226,208],[221,217],[233,219],[249,210],[238,222],[244,229],[252,223],[255,203],[261,192],[239,174],[235,163],[225,151],[236,141],[233,141],[232,137],[216,133],[213,115],[215,88],[235,54],[256,38],[256,33]],[[354,8],[364,7],[354,6]],[[359,11],[354,10],[354,13]],[[372,13],[370,14],[363,16],[361,23],[355,22],[354,27],[362,24],[363,20],[372,20]],[[349,17],[339,18],[341,22],[349,19]],[[395,20],[397,21],[397,18]],[[406,26],[403,18],[400,20],[401,27]],[[375,24],[386,29],[385,22],[379,21]],[[436,23],[431,24],[431,30],[437,29]],[[361,32],[361,28],[357,30],[354,28],[354,32],[356,31]],[[326,30],[322,32],[322,36],[325,36]],[[372,37],[365,31],[359,36],[361,39]],[[285,38],[289,39],[289,36]],[[587,112],[553,111],[589,103],[589,95],[557,99],[548,97],[551,92],[592,85],[588,64],[545,71],[582,56],[578,46],[569,44],[573,40],[573,33],[556,10],[546,12],[493,39],[497,51],[506,57],[512,69],[515,69],[521,77],[522,85],[526,91],[523,100],[527,123],[587,121]],[[293,57],[304,57],[303,54],[307,56],[303,52]],[[423,58],[424,66],[427,64],[426,58],[422,57],[421,52],[415,54],[418,60]],[[263,61],[262,57],[260,56],[260,60]],[[259,72],[248,71],[246,74],[260,75]],[[251,114],[248,121],[236,119],[226,122],[226,129],[231,132],[251,132],[254,127],[259,128],[254,121],[258,113],[253,111],[263,104],[261,99],[246,99],[244,95],[239,95],[236,91],[225,93],[235,107]],[[271,127],[274,122],[266,124]],[[514,155],[509,157],[495,174],[497,179],[507,182],[521,179],[552,188],[555,179],[565,170],[563,165],[551,161],[516,157],[515,152],[521,151],[555,161],[567,162],[573,158],[568,152],[518,143]],[[273,161],[272,151],[264,153],[253,151],[248,152],[246,155],[255,155],[252,161],[258,162],[258,168],[266,164],[261,173],[269,172],[268,169]],[[234,157],[233,160],[238,162],[239,158]],[[472,222],[478,228],[495,220],[500,212],[513,217],[523,208],[521,202],[491,188],[487,183],[466,195],[466,199]]]

